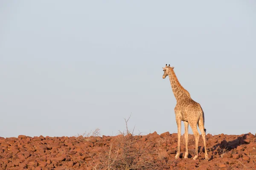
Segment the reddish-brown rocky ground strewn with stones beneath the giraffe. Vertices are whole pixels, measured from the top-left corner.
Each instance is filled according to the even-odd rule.
[[[189,135],[189,158],[175,159],[177,133],[145,136],[0,137],[2,170],[249,170],[256,169],[256,136],[207,134],[209,161],[204,160],[203,140],[193,160],[195,140]]]

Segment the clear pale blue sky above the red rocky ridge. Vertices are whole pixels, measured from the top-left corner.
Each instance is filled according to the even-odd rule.
[[[177,133],[166,63],[201,104],[207,133],[256,133],[255,8],[253,0],[1,0],[0,136],[97,127],[116,135],[131,113],[136,133]]]

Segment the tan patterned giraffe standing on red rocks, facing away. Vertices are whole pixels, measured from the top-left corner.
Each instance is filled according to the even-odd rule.
[[[198,158],[198,141],[199,141],[199,133],[197,129],[197,125],[202,133],[202,137],[204,140],[204,152],[205,152],[205,159],[208,161],[208,154],[206,149],[206,142],[205,142],[205,133],[206,129],[204,128],[204,111],[201,108],[201,105],[191,99],[190,94],[186,91],[185,88],[180,85],[176,74],[174,72],[174,67],[166,66],[163,67],[163,79],[169,75],[169,79],[172,86],[172,92],[177,100],[177,104],[174,108],[175,116],[176,116],[176,123],[177,123],[177,134],[178,134],[178,146],[177,146],[177,154],[175,159],[180,157],[180,136],[181,136],[181,121],[184,122],[185,127],[185,141],[186,141],[186,152],[184,158],[188,158],[188,127],[192,128],[192,131],[195,136],[195,157],[194,160]]]

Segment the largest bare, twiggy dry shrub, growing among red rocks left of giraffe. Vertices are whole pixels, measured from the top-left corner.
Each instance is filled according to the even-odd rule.
[[[134,129],[128,129],[125,119],[125,131],[111,139],[108,152],[98,153],[100,163],[94,162],[93,170],[160,170],[155,164],[153,153],[148,151],[148,144],[140,141],[141,136],[134,135]]]

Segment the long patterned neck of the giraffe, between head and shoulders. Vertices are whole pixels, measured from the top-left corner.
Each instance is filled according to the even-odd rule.
[[[176,98],[176,100],[180,100],[183,98],[190,98],[190,94],[188,91],[186,91],[185,88],[182,87],[182,85],[180,85],[179,80],[176,77],[175,72],[173,71],[173,69],[168,69],[168,75],[169,75],[169,79],[171,82],[171,86],[172,86],[172,92]]]

